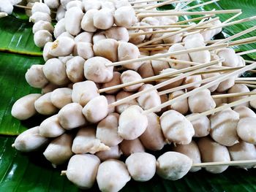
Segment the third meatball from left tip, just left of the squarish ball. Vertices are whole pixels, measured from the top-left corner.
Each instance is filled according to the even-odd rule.
[[[70,88],[56,88],[51,95],[50,101],[55,107],[61,109],[65,105],[72,103],[72,89]]]

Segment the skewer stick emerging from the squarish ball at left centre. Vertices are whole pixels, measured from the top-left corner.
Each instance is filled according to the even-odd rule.
[[[211,61],[208,64],[200,64],[200,65],[196,65],[196,66],[190,66],[190,67],[187,67],[185,69],[180,69],[180,70],[175,71],[175,72],[167,72],[165,74],[158,74],[154,77],[147,77],[147,78],[144,78],[142,80],[126,82],[126,83],[123,83],[121,85],[115,85],[115,86],[112,86],[112,87],[109,87],[109,88],[102,88],[102,89],[98,90],[98,93],[104,93],[106,91],[111,91],[111,90],[115,90],[115,89],[118,89],[118,88],[124,88],[124,87],[127,87],[129,85],[135,85],[135,84],[138,84],[138,83],[141,83],[141,82],[151,82],[151,81],[159,80],[163,77],[170,77],[170,76],[173,76],[173,75],[176,75],[176,74],[181,74],[181,73],[184,73],[184,72],[192,72],[196,69],[200,69],[200,68],[208,66],[208,65],[212,66],[214,64],[218,64],[220,61],[223,61],[223,59],[219,59],[219,60],[216,60],[216,61]]]

